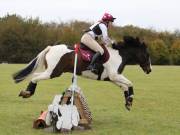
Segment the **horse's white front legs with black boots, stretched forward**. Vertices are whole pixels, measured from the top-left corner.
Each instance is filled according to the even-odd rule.
[[[134,98],[132,82],[125,78],[123,75],[117,73],[111,74],[109,77],[112,82],[120,86],[124,91],[125,107],[127,110],[130,110]]]

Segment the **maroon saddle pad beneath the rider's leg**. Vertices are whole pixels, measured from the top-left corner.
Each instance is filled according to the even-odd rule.
[[[104,49],[104,54],[100,58],[99,62],[101,64],[103,64],[103,63],[108,61],[108,59],[109,59],[109,52],[108,52],[107,48],[105,47],[105,45],[101,45],[101,47]],[[82,60],[85,61],[85,62],[91,62],[92,57],[95,54],[95,52],[93,50],[91,50],[90,48],[85,46],[83,43],[79,43],[78,51],[79,51],[78,55],[80,55]]]

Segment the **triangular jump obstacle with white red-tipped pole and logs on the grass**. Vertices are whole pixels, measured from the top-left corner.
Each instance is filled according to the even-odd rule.
[[[92,123],[92,116],[91,111],[88,107],[87,101],[85,99],[85,96],[83,92],[81,91],[80,87],[77,85],[77,75],[76,75],[76,67],[77,67],[77,53],[78,48],[75,44],[75,60],[74,60],[74,73],[72,78],[72,85],[63,92],[62,95],[55,96],[53,103],[49,105],[47,111],[42,111],[39,118],[34,121],[33,128],[40,129],[40,128],[48,128],[52,127],[54,130],[53,132],[63,132],[63,131],[71,131],[72,129],[91,129],[91,123]],[[70,108],[67,109],[68,112],[65,112],[65,114],[71,112],[71,114],[66,117],[63,117],[63,106]],[[75,107],[75,112],[77,110],[77,116],[75,117],[76,122],[73,124],[73,112],[72,108]],[[66,111],[67,111],[66,110]],[[70,126],[66,128],[66,126],[63,126],[63,122],[59,122],[60,120],[64,123],[69,122],[69,119],[71,119]],[[59,121],[58,121],[59,120]],[[61,124],[58,124],[58,122]],[[77,124],[76,124],[77,123]],[[65,127],[65,128],[64,128]]]

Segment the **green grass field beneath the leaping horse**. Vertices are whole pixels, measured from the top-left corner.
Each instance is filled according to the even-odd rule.
[[[71,84],[71,74],[42,81],[29,99],[17,95],[27,82],[14,84],[12,73],[24,65],[0,65],[0,135],[50,135],[32,128],[55,94]],[[110,82],[78,78],[93,115],[92,130],[73,135],[180,135],[180,67],[153,66],[146,75],[128,66],[124,75],[133,82],[135,100],[129,112],[122,90]]]

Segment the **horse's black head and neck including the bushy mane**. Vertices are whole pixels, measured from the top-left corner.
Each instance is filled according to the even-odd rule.
[[[127,64],[136,63],[140,65],[145,73],[149,74],[151,72],[151,59],[147,46],[139,38],[125,36],[124,41],[113,45],[113,48],[119,50],[120,55],[123,54]]]

